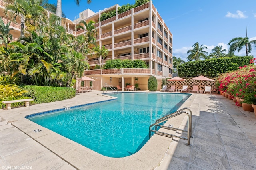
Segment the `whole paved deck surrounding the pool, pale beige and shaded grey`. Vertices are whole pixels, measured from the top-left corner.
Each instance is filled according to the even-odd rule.
[[[221,95],[192,94],[180,107],[192,110],[192,147],[186,140],[154,135],[137,153],[124,158],[102,156],[24,118],[26,115],[111,99],[81,93],[64,101],[0,110],[2,169],[256,169],[256,118]],[[166,92],[162,92],[166,93]],[[186,128],[185,115],[170,119]],[[35,132],[34,130],[41,130]],[[175,132],[173,132],[175,133]],[[184,136],[185,133],[177,132]]]

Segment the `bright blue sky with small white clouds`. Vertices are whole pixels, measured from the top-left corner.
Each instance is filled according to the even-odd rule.
[[[62,0],[62,11],[73,20],[79,12],[89,8],[94,12],[114,4],[134,4],[135,0],[81,0],[77,6],[74,0]],[[228,42],[235,37],[256,40],[256,0],[153,0],[154,6],[173,34],[173,55],[184,61],[186,53],[198,42],[208,47],[207,52],[222,45],[228,51]],[[49,0],[57,3],[57,0]],[[251,55],[256,57],[256,47]],[[246,55],[245,48],[236,55]]]

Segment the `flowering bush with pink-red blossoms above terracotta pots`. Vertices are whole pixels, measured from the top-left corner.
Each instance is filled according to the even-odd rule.
[[[256,58],[250,61],[254,64]],[[244,103],[256,104],[256,65],[239,67],[239,70],[219,77],[219,89],[244,99]]]

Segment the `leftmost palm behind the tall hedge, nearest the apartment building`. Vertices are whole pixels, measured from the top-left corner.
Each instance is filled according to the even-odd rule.
[[[188,55],[187,60],[188,61],[192,61],[192,60],[200,60],[200,58],[204,58],[206,57],[206,55],[208,55],[208,52],[204,51],[204,49],[207,49],[207,47],[201,45],[199,47],[199,43],[196,42],[193,46],[193,49],[188,50],[187,54],[190,53],[190,55]]]

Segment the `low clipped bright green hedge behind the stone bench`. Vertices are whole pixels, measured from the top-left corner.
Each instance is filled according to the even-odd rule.
[[[36,104],[71,99],[76,95],[76,89],[70,87],[23,86],[22,88],[28,91],[23,96],[34,99]]]

